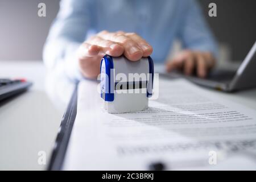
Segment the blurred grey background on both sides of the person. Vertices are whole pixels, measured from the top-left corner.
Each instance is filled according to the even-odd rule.
[[[256,40],[255,0],[198,0],[220,43],[221,60],[243,60]],[[38,4],[46,3],[46,17]],[[217,17],[208,16],[208,5],[217,4]],[[0,61],[42,60],[49,27],[59,0],[0,0]]]

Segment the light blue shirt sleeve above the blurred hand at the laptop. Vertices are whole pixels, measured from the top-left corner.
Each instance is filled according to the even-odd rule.
[[[217,58],[217,43],[205,22],[199,4],[195,0],[188,0],[183,13],[184,19],[179,31],[183,47],[196,51],[209,51]]]

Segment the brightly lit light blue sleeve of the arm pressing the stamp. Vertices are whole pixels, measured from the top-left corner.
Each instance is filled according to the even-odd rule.
[[[82,78],[75,53],[90,27],[88,6],[88,0],[62,0],[44,45],[46,66],[56,71],[62,69],[73,80]]]

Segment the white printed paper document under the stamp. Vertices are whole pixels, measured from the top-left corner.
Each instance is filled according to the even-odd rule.
[[[160,78],[159,98],[147,110],[108,114],[97,86],[80,82],[63,169],[256,169],[255,110]]]

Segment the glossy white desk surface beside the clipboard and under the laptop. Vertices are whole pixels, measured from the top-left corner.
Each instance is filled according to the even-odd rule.
[[[55,73],[46,73],[42,61],[0,61],[3,77],[24,77],[34,85],[0,104],[0,169],[46,169],[47,165],[38,163],[38,152],[46,152],[48,163],[74,85]],[[209,92],[256,110],[256,89],[232,94]]]

